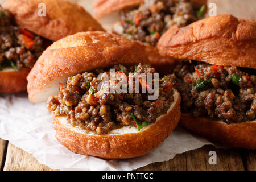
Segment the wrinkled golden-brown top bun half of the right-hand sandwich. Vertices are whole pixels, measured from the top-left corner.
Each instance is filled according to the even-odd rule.
[[[256,69],[256,22],[224,14],[174,26],[160,38],[158,49],[176,59]]]

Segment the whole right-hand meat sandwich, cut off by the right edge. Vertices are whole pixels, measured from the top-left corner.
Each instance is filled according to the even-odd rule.
[[[187,59],[171,76],[181,94],[181,125],[228,146],[255,149],[256,22],[217,15],[171,28],[158,48]]]

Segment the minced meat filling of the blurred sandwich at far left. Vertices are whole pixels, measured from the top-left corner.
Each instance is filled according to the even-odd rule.
[[[0,6],[0,70],[32,68],[43,52],[42,39],[15,26],[11,14]]]

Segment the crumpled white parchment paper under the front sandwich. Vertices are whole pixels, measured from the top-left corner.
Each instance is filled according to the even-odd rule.
[[[72,2],[84,6],[89,13],[93,11],[92,0]],[[109,30],[115,21],[114,18],[117,17],[116,14],[109,15],[102,19],[101,23]],[[32,104],[28,101],[27,93],[0,95],[0,138],[9,140],[15,146],[32,154],[40,163],[52,169],[63,170],[137,169],[153,162],[172,159],[176,154],[200,148],[205,144],[212,144],[177,127],[158,148],[138,158],[104,160],[74,154],[55,139],[52,117],[46,109],[46,103]]]

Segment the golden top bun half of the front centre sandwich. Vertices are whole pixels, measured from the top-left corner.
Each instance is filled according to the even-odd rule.
[[[144,47],[138,42],[106,32],[80,32],[67,36],[49,46],[28,75],[30,101],[46,101],[51,94],[56,94],[34,98],[57,78],[118,63],[148,63],[143,52]]]

